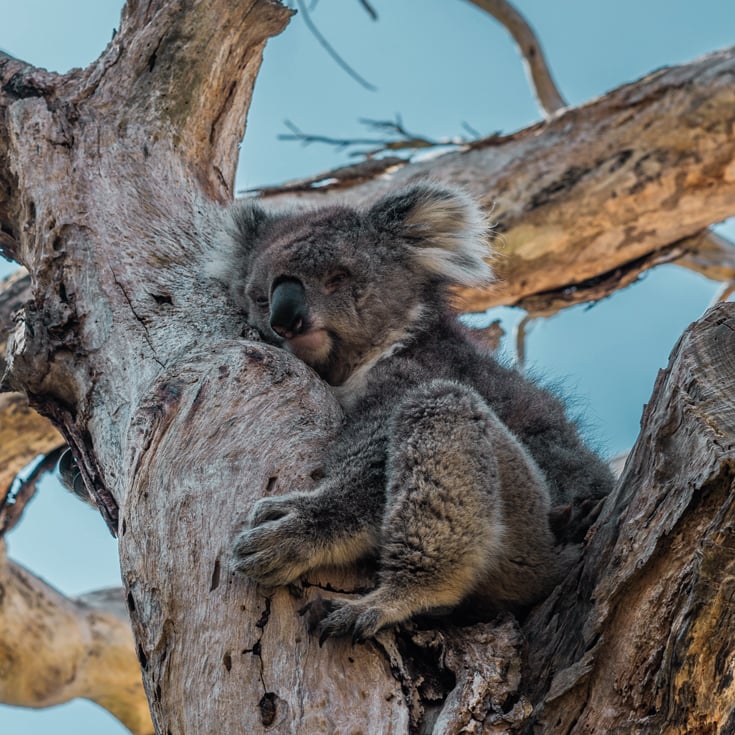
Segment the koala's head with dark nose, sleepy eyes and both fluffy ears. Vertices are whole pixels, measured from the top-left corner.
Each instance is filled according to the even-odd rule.
[[[233,210],[235,272],[248,321],[342,384],[446,308],[452,284],[491,272],[485,217],[462,192],[422,184],[367,210]]]

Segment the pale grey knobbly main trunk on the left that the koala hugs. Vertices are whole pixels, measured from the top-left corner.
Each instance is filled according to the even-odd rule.
[[[368,730],[378,717],[403,732],[407,721],[378,651],[320,649],[295,614],[302,600],[267,600],[228,571],[248,499],[313,483],[339,422],[311,371],[241,339],[204,273],[244,99],[287,17],[264,0],[135,3],[88,70],[0,62],[0,171],[14,177],[0,218],[32,290],[6,381],[62,428],[119,531],[159,733],[260,732],[276,720],[293,732]],[[332,712],[340,677],[354,684],[345,697],[357,689],[371,707]]]

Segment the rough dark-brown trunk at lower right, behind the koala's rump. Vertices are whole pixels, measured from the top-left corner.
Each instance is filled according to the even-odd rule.
[[[526,621],[539,732],[733,732],[734,501],[728,303],[680,340],[582,568]]]

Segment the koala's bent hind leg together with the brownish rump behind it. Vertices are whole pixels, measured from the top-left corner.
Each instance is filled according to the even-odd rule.
[[[472,597],[484,611],[547,594],[568,561],[549,528],[543,475],[473,389],[434,380],[393,413],[377,589],[307,610],[321,640],[369,638]]]

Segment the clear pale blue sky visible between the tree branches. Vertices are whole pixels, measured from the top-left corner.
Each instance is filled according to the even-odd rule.
[[[307,0],[309,2],[309,0]],[[296,17],[271,41],[256,85],[238,169],[239,189],[276,183],[347,162],[344,152],[277,140],[290,119],[309,133],[364,136],[359,118],[393,119],[426,136],[511,132],[539,118],[508,34],[465,0],[320,0],[313,18],[360,74],[352,81]],[[732,0],[519,0],[537,29],[567,100],[578,104],[668,64],[735,43]],[[117,0],[0,0],[0,48],[65,71],[88,64],[119,23]],[[735,238],[735,226],[724,230]],[[0,262],[0,277],[12,269]],[[609,453],[635,440],[643,404],[682,330],[719,286],[665,266],[593,308],[575,307],[533,324],[535,369],[579,397],[592,433]],[[497,312],[509,331],[522,314]],[[59,524],[63,519],[63,524]],[[119,583],[116,547],[101,519],[44,483],[19,528],[11,556],[64,592]],[[0,707],[3,735],[126,732],[95,705],[40,712]]]

